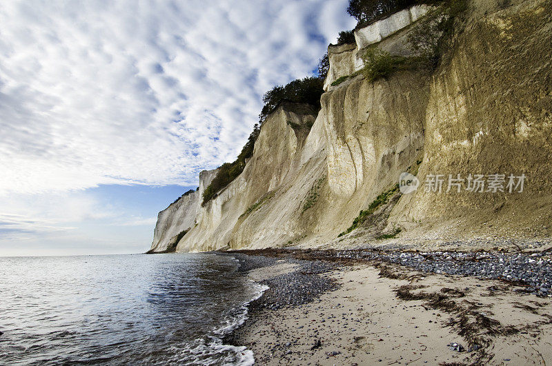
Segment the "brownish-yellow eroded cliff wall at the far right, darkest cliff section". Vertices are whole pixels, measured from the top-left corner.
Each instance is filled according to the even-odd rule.
[[[525,174],[524,190],[418,190],[391,219],[404,238],[549,237],[552,1],[475,1],[454,42],[428,83],[418,175]]]

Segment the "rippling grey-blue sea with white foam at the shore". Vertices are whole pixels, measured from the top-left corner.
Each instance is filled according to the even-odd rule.
[[[221,254],[0,257],[0,365],[253,365],[266,287]]]

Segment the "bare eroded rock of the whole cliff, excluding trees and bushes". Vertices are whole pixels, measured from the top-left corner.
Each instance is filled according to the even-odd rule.
[[[173,245],[188,225],[179,252],[549,238],[551,17],[549,0],[471,1],[435,72],[402,71],[375,82],[355,73],[354,45],[330,48],[328,78],[348,79],[326,81],[322,110],[277,108],[244,172],[204,207],[200,189],[159,213],[154,245]],[[408,54],[408,27],[375,44]],[[402,172],[422,181],[417,192],[392,190]],[[527,180],[517,194],[436,194],[423,189],[428,174]],[[386,205],[338,238],[383,192],[393,193]],[[398,229],[396,238],[381,240]]]

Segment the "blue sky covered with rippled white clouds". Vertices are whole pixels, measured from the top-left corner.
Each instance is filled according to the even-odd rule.
[[[262,94],[355,26],[347,3],[1,1],[0,256],[146,252]]]

